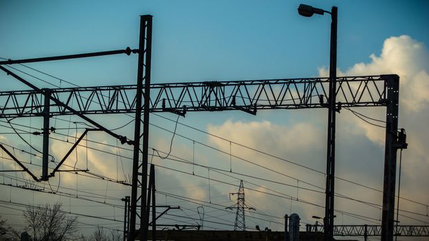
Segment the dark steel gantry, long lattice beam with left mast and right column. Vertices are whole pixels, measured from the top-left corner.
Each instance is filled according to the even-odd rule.
[[[117,50],[93,54],[73,55],[73,58],[101,56],[106,54],[139,53],[137,85],[73,87],[61,89],[39,89],[3,65],[20,61],[1,61],[0,69],[25,83],[32,90],[0,92],[0,118],[43,116],[44,156],[48,156],[49,118],[74,114],[94,127],[103,130],[121,143],[134,145],[132,196],[130,216],[130,237],[141,231],[141,237],[148,233],[147,197],[147,154],[149,112],[172,112],[185,115],[186,112],[217,112],[241,110],[256,114],[260,109],[309,109],[328,108],[329,78],[293,78],[257,81],[205,81],[196,83],[150,83],[150,59],[152,45],[152,16],[141,16],[139,50]],[[98,54],[98,55],[97,55]],[[70,56],[62,56],[62,59]],[[50,61],[61,58],[31,59]],[[21,63],[24,63],[21,61]],[[27,63],[27,62],[25,62]],[[144,81],[144,83],[143,83]],[[398,141],[399,76],[337,77],[336,103],[341,107],[387,107],[386,147],[383,187],[383,240],[392,240],[393,213],[395,207],[395,174],[397,149],[403,148]],[[146,98],[149,97],[149,98]],[[134,139],[116,134],[89,118],[88,114],[135,113]],[[141,137],[141,115],[143,114],[143,155],[139,165],[139,140]],[[8,153],[8,150],[0,145]],[[10,153],[8,153],[10,154]],[[12,156],[12,154],[10,154]],[[19,163],[19,160],[15,160]],[[49,178],[47,159],[41,180]],[[19,163],[20,164],[20,163]],[[31,172],[21,165],[30,175]],[[329,175],[329,174],[328,174]],[[137,178],[138,177],[138,178]],[[34,175],[34,180],[39,180]],[[137,197],[137,186],[141,186],[141,196]],[[333,202],[334,192],[327,196]],[[140,201],[141,205],[137,202]],[[141,229],[136,229],[137,206],[141,207]],[[145,238],[143,238],[145,239]]]

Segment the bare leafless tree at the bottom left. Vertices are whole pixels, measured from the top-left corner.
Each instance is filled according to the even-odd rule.
[[[77,217],[67,216],[61,203],[28,206],[24,211],[28,232],[34,241],[62,241],[75,238],[78,230]]]

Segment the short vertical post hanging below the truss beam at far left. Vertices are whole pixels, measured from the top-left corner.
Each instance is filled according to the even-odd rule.
[[[50,118],[50,91],[43,89],[43,155],[41,167],[41,180],[48,180],[49,164],[49,118]]]

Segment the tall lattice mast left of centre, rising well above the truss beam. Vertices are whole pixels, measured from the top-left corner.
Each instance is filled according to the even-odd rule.
[[[146,196],[148,187],[148,140],[149,140],[149,104],[150,104],[150,60],[152,56],[152,16],[140,17],[140,40],[139,40],[139,64],[137,70],[137,93],[136,93],[136,117],[134,123],[134,149],[132,159],[132,189],[130,210],[130,232],[129,240],[135,240],[137,200],[140,200],[140,240],[148,240],[148,223],[145,218]],[[144,80],[144,105],[143,105],[143,150],[142,163],[139,165],[140,134],[141,134],[141,99],[143,95]],[[139,169],[141,167],[141,172]],[[141,177],[141,181],[139,180]],[[137,198],[137,187],[141,185],[141,196]]]

